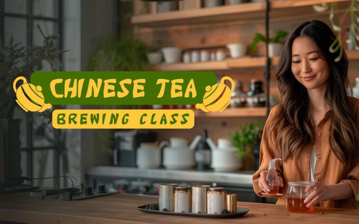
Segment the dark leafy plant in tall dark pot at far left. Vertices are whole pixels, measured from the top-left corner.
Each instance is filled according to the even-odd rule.
[[[0,119],[2,124],[8,125],[8,150],[5,152],[7,179],[15,179],[21,176],[21,154],[20,154],[20,120],[14,118],[16,103],[16,93],[13,88],[13,81],[19,76],[26,78],[30,82],[33,72],[43,69],[43,61],[47,61],[52,68],[60,64],[57,55],[64,51],[58,51],[56,40],[58,34],[45,36],[38,26],[43,36],[43,44],[22,46],[21,43],[14,43],[13,38],[5,42],[0,48]],[[22,83],[19,83],[22,84]],[[21,111],[23,111],[21,109]],[[27,113],[27,117],[32,121],[32,113]],[[1,143],[3,144],[3,143]],[[6,146],[5,146],[6,147]],[[17,185],[17,182],[12,182]],[[11,186],[8,185],[7,186]]]

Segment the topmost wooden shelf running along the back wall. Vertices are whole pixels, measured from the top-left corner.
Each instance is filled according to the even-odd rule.
[[[288,8],[290,14],[293,14],[290,8],[304,7],[303,10],[308,12],[312,5],[334,2],[350,2],[350,0],[276,0],[270,2],[272,16],[282,17],[286,15]],[[245,21],[259,20],[265,18],[266,3],[243,3],[238,5],[226,5],[213,8],[200,8],[193,10],[179,10],[165,13],[153,13],[145,15],[135,15],[131,21],[133,24],[142,24],[149,27],[179,25],[179,24],[195,24],[209,23],[221,21]],[[313,9],[312,9],[313,10]],[[327,10],[328,11],[328,10]],[[314,10],[313,10],[314,12]],[[284,13],[281,15],[281,13]],[[300,12],[298,12],[300,13]],[[328,12],[326,12],[328,13]]]

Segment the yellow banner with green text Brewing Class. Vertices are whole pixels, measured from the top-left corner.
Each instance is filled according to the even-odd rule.
[[[191,129],[191,109],[56,109],[53,127],[72,129]]]

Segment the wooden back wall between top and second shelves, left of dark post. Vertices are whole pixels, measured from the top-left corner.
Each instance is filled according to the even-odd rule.
[[[153,49],[176,46],[182,49],[225,47],[229,43],[252,43],[255,33],[264,33],[264,23],[224,22],[215,24],[177,25],[171,27],[137,29],[136,37]],[[258,45],[265,55],[265,44]]]

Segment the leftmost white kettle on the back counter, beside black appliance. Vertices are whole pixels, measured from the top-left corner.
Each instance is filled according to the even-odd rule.
[[[137,148],[136,164],[139,168],[158,168],[161,166],[161,150],[168,146],[166,141],[156,143],[141,143]]]

